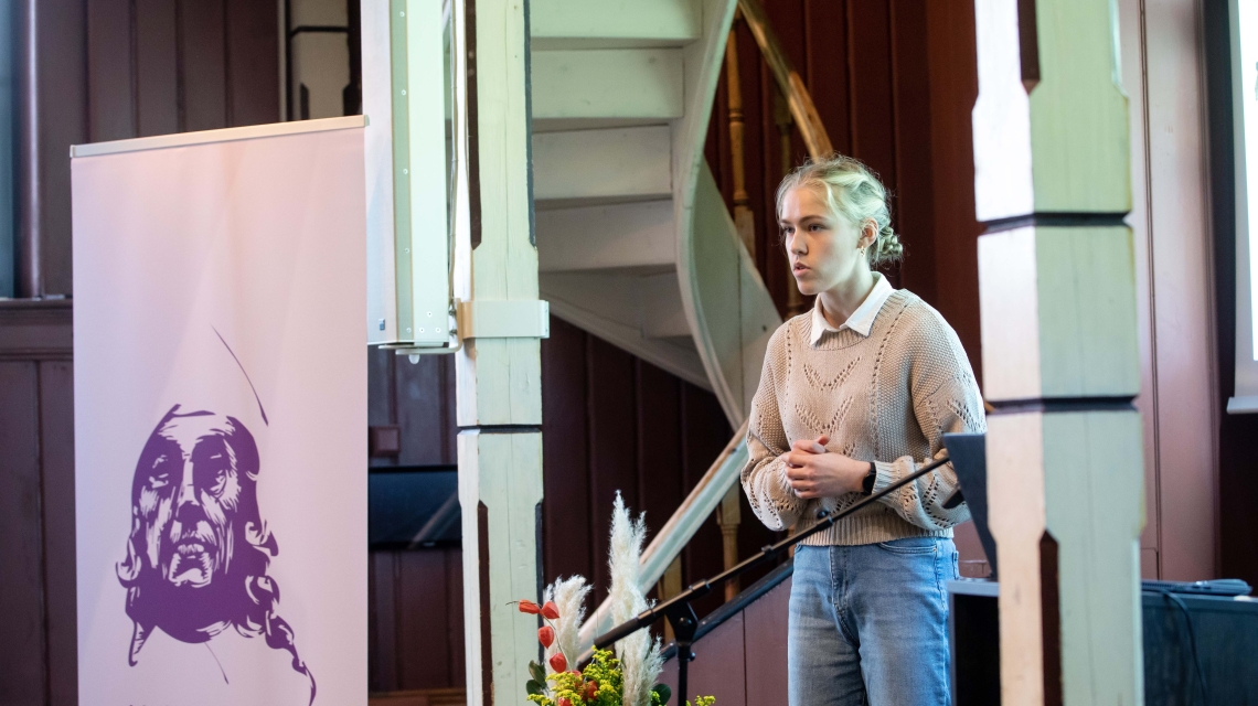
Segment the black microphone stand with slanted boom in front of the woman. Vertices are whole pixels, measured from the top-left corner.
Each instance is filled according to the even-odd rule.
[[[610,649],[616,642],[629,637],[630,634],[645,628],[658,620],[660,615],[668,619],[668,623],[673,625],[674,644],[677,646],[677,691],[679,693],[678,703],[686,703],[686,688],[687,688],[687,664],[691,659],[694,659],[694,653],[691,652],[691,646],[694,643],[694,633],[698,629],[698,617],[694,614],[694,608],[691,605],[692,600],[703,598],[704,595],[712,593],[715,586],[728,581],[736,576],[741,576],[750,569],[759,566],[770,559],[777,556],[779,554],[786,551],[788,549],[795,546],[796,544],[806,540],[808,537],[833,527],[835,522],[852,515],[853,512],[868,507],[869,505],[878,502],[883,497],[891,495],[894,491],[912,483],[913,481],[921,478],[922,476],[935,471],[940,466],[949,462],[949,457],[944,456],[936,458],[935,461],[922,466],[917,471],[913,471],[908,476],[891,483],[886,488],[871,495],[869,497],[857,502],[855,505],[843,510],[837,515],[825,513],[825,516],[818,521],[815,525],[806,530],[796,532],[776,544],[765,545],[760,549],[760,552],[755,556],[746,559],[745,561],[721,571],[720,574],[712,576],[711,579],[704,579],[702,581],[691,584],[689,588],[682,593],[669,598],[668,600],[659,603],[647,610],[643,610],[638,615],[629,618],[624,623],[611,628],[610,630],[603,633],[601,636],[594,638],[594,647],[598,649]]]

